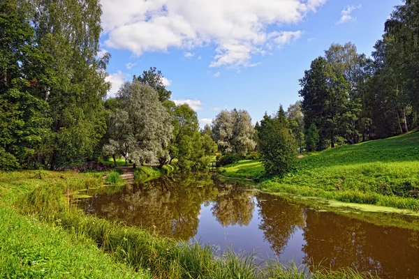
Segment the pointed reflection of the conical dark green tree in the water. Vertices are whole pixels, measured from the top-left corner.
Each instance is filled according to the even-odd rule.
[[[270,243],[271,249],[280,255],[294,232],[304,227],[302,207],[281,202],[281,198],[268,194],[258,195],[258,207],[259,229],[263,230],[264,239]]]

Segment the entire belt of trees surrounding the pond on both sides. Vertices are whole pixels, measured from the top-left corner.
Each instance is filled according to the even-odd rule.
[[[267,172],[293,168],[297,151],[407,133],[419,115],[419,1],[385,22],[368,57],[332,44],[300,79],[302,100],[253,126],[246,110],[221,111],[200,130],[175,105],[156,68],[106,98],[110,54],[99,56],[98,0],[0,3],[0,169],[49,168],[99,158],[136,164],[177,160],[205,169],[222,155],[260,152]]]

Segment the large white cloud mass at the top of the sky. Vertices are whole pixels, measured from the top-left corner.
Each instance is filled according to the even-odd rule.
[[[253,55],[300,38],[302,31],[281,26],[301,22],[325,1],[102,0],[105,45],[135,55],[214,45],[210,66],[246,67]]]

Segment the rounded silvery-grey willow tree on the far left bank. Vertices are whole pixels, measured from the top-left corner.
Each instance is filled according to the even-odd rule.
[[[156,91],[138,81],[126,82],[119,89],[117,100],[121,107],[114,124],[117,132],[112,133],[114,138],[110,138],[105,150],[113,150],[114,154],[123,150],[128,153],[126,158],[138,164],[169,158],[173,128],[170,114]]]

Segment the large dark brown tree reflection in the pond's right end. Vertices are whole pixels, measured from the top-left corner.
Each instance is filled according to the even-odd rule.
[[[314,211],[307,211],[306,223],[302,250],[307,266],[351,266],[382,278],[419,274],[418,232]]]

